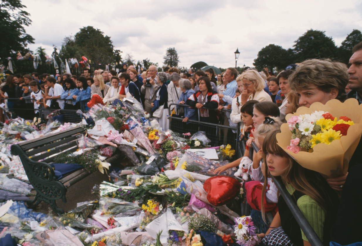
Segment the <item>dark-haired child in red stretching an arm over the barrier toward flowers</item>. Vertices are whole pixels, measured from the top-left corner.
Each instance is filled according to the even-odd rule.
[[[245,131],[243,130],[243,135],[241,137],[245,137],[245,135],[248,135],[248,133],[251,132],[252,129],[255,129],[254,125],[253,125],[253,119],[252,119],[254,116],[253,110],[254,110],[255,103],[258,103],[258,101],[250,100],[250,101],[247,101],[243,106],[241,106],[241,109],[240,109],[241,120],[244,122],[244,129],[246,129]],[[244,156],[249,156],[249,147],[247,147],[247,150],[245,150]],[[241,158],[243,158],[243,157],[241,157]],[[214,174],[219,175],[220,173],[222,173],[223,171],[225,171],[229,168],[239,166],[241,158],[237,159],[236,161],[230,162],[229,164],[216,168],[214,171]]]

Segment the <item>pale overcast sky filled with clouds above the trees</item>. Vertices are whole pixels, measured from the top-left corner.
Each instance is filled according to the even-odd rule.
[[[31,14],[26,32],[29,45],[53,51],[64,37],[93,26],[111,37],[116,49],[137,60],[163,65],[168,47],[175,47],[180,66],[199,61],[216,67],[252,66],[268,44],[292,48],[309,29],[322,30],[337,46],[346,36],[362,31],[362,1],[265,0],[22,0]],[[24,55],[24,54],[23,54]]]

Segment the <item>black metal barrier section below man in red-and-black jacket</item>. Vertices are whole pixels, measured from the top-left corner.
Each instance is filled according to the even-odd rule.
[[[171,103],[171,105],[179,105],[182,107],[189,107],[185,104]],[[207,109],[205,107],[202,107]],[[236,127],[224,126],[223,124],[213,124],[208,122],[201,122],[198,120],[188,120],[189,124],[182,122],[184,118],[179,118],[175,116],[171,116],[171,109],[169,107],[169,128],[174,132],[185,133],[190,132],[193,135],[197,131],[205,131],[206,136],[211,140],[212,146],[220,146],[230,144],[232,149],[235,149],[236,158],[240,158],[239,151],[239,135],[240,135],[240,125],[238,124]],[[217,109],[209,109],[209,110],[217,110]],[[231,110],[223,109],[222,111],[231,112]]]

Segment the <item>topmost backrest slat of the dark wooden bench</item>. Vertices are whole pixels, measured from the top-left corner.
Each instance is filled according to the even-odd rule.
[[[20,143],[18,145],[21,147],[22,150],[26,151],[29,149],[37,148],[37,147],[42,146],[47,143],[51,143],[51,142],[59,140],[59,139],[63,139],[64,137],[69,137],[69,136],[76,135],[76,134],[78,135],[79,133],[83,133],[83,132],[84,132],[84,129],[82,127],[77,127],[70,131],[57,132],[57,133],[50,134],[47,136],[39,137],[37,139],[32,139],[32,140],[29,140],[29,142],[26,141],[25,143]]]

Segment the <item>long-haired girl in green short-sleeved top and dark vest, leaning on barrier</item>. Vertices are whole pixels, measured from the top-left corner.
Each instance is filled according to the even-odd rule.
[[[269,170],[270,175],[284,183],[323,244],[329,245],[330,229],[339,202],[337,193],[319,173],[302,167],[279,147],[276,137],[279,132],[280,130],[271,131],[264,139],[262,150],[266,164],[264,165],[265,173]],[[263,215],[265,211],[263,200],[267,183],[268,177],[265,177],[261,197]],[[269,244],[273,239],[278,239],[279,242],[289,239],[296,246],[311,245],[282,196],[279,196],[278,208],[279,212],[271,222],[262,242]],[[282,234],[284,236],[281,236]],[[285,244],[281,242],[278,245]]]

